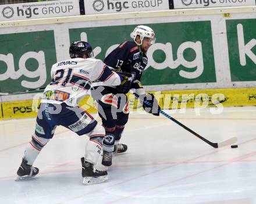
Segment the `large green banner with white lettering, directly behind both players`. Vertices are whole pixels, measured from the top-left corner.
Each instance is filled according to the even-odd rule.
[[[125,39],[136,25],[69,29],[70,42],[87,36],[104,60],[111,49]],[[148,49],[148,66],[143,72],[144,85],[216,82],[211,22],[147,24],[157,31],[157,43]],[[127,32],[130,31],[130,32]],[[106,41],[102,33],[111,36]],[[183,35],[189,33],[189,35]]]

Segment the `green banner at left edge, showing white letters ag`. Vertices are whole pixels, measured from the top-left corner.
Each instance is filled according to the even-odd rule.
[[[0,34],[0,92],[44,87],[56,63],[54,31]]]

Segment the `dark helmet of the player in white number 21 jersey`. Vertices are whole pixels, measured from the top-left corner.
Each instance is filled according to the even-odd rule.
[[[88,42],[74,41],[69,47],[70,58],[83,58],[84,54],[87,58],[93,58],[93,48]]]

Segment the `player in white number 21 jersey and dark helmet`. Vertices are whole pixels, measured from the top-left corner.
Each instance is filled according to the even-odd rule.
[[[108,179],[106,171],[94,169],[101,153],[105,130],[86,110],[78,106],[78,102],[88,94],[94,81],[129,90],[131,75],[112,72],[101,60],[91,58],[92,50],[87,42],[75,41],[69,49],[71,59],[52,66],[52,82],[44,90],[35,131],[17,170],[16,180],[38,174],[38,168],[32,165],[41,149],[54,136],[56,126],[64,126],[78,135],[90,137],[85,156],[81,158],[83,183],[94,184]]]

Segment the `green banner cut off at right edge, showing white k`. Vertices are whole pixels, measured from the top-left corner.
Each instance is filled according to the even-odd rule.
[[[256,19],[226,20],[232,81],[256,81]]]

